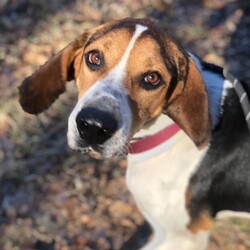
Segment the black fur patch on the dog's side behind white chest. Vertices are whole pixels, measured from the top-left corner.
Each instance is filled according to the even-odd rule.
[[[192,219],[204,209],[211,216],[222,210],[250,212],[250,133],[233,89],[223,110],[221,126],[189,183]]]

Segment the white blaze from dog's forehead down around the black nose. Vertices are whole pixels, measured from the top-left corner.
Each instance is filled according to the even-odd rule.
[[[104,148],[107,149],[106,157],[111,157],[117,151],[122,151],[126,145],[132,123],[127,91],[124,87],[126,67],[136,40],[147,29],[143,25],[137,24],[135,26],[135,32],[119,63],[105,77],[93,84],[87,93],[78,100],[68,121],[68,144],[71,148],[77,149],[78,147],[77,139],[79,138],[79,132],[75,121],[76,116],[83,107],[89,105],[97,108],[99,105],[107,107],[110,109],[109,111],[116,113],[115,115],[120,119],[120,128],[104,143]],[[98,103],[98,100],[102,100],[102,102]]]

